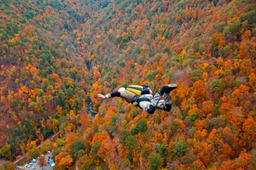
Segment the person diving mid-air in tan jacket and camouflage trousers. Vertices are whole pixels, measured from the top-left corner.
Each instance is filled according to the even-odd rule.
[[[131,87],[133,89],[139,89],[139,86],[132,86]],[[177,84],[164,85],[160,91],[154,95],[154,97],[152,95],[153,92],[150,90],[150,88],[148,88],[147,85],[140,86],[141,92],[139,95],[129,90],[130,88],[128,87],[121,87],[118,89],[118,91],[113,91],[107,95],[98,94],[97,96],[102,99],[108,99],[112,97],[124,98],[128,103],[132,103],[133,105],[140,107],[150,114],[155,112],[155,108],[169,112],[172,108],[172,97],[170,92],[177,88]],[[161,100],[162,97],[163,100]]]

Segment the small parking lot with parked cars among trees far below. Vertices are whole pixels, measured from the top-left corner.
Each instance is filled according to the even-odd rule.
[[[43,170],[53,170],[53,166],[48,164],[49,157],[52,158],[52,153],[44,154],[46,166],[43,166]],[[42,167],[38,164],[38,159],[35,161],[31,160],[29,164],[26,163],[24,166],[19,166],[19,168],[24,170],[42,170]]]

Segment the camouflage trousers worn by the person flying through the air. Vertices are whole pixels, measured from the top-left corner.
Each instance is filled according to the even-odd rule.
[[[163,97],[163,100],[160,100],[162,97]],[[156,93],[154,95],[154,97],[152,98],[151,102],[142,101],[139,103],[139,106],[143,110],[147,111],[148,113],[150,113],[149,110],[152,110],[152,106],[154,106],[154,108],[165,110],[165,111],[169,112],[171,110],[171,106],[172,106],[172,97],[171,97],[170,93],[164,94],[163,96],[161,96],[159,93]],[[154,111],[153,111],[153,113],[154,113]]]

